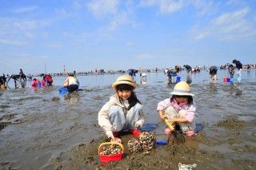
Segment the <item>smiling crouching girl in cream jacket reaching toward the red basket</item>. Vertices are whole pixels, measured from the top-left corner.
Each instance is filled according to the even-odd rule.
[[[111,141],[121,142],[117,137],[119,132],[140,128],[144,123],[142,104],[134,93],[136,87],[136,83],[129,75],[118,77],[112,84],[112,88],[115,89],[114,95],[98,113],[98,125]]]

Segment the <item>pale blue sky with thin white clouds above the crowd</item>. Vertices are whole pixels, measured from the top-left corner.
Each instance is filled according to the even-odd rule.
[[[256,63],[255,0],[0,0],[0,74]]]

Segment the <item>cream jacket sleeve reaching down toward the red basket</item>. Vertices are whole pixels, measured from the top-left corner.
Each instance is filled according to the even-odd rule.
[[[110,101],[103,105],[102,109],[98,113],[98,125],[100,125],[105,131],[112,131],[112,125],[109,118]]]

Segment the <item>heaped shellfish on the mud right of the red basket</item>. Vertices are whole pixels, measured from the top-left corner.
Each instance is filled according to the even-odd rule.
[[[128,149],[130,152],[150,151],[154,148],[156,136],[154,132],[141,132],[139,140],[132,138],[128,141]]]

